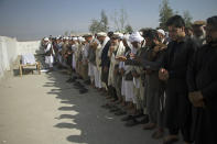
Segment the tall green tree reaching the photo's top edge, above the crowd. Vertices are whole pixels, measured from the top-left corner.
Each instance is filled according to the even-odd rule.
[[[173,9],[169,5],[169,0],[163,0],[160,5],[160,27],[163,30],[167,30],[166,21],[169,18],[173,16]]]

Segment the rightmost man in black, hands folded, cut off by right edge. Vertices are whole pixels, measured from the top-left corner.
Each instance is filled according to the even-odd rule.
[[[207,19],[206,42],[187,70],[188,98],[197,109],[195,144],[217,144],[217,16]]]

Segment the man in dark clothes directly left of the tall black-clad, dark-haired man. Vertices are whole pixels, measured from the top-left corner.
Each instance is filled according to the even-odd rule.
[[[159,37],[156,30],[150,30],[144,35],[147,41],[147,58],[142,59],[147,79],[147,110],[150,122],[144,124],[144,130],[158,130],[152,134],[153,139],[163,136],[163,112],[164,112],[164,85],[159,79],[158,71],[162,65],[166,45]]]

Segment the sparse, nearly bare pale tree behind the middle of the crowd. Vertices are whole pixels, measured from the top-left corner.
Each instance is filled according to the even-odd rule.
[[[124,32],[128,20],[128,14],[124,9],[120,9],[120,13],[115,10],[113,15],[111,15],[111,20],[113,21],[113,25],[116,27],[115,31]]]

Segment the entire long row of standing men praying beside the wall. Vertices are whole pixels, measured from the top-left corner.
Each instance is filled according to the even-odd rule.
[[[217,144],[217,16],[185,27],[174,15],[166,26],[44,37],[45,64],[72,69],[67,82],[80,93],[90,85],[106,97],[102,108],[163,144],[178,132],[185,144]]]

